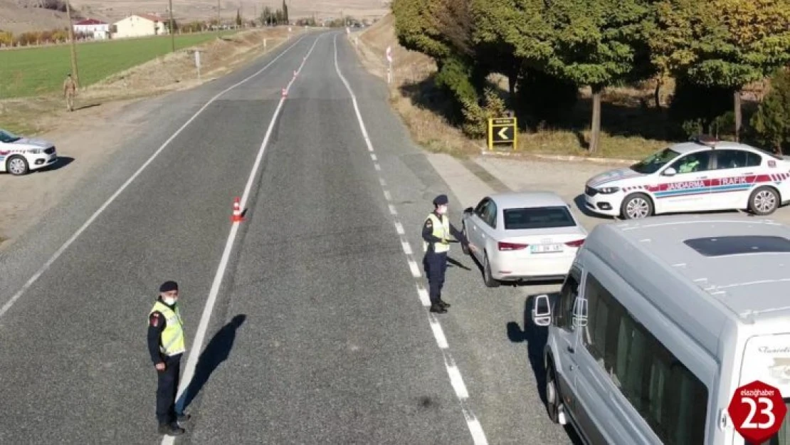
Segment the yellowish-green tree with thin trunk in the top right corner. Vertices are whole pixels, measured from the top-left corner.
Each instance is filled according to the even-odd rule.
[[[787,0],[662,0],[653,60],[698,85],[732,90],[735,138],[743,87],[790,62]]]

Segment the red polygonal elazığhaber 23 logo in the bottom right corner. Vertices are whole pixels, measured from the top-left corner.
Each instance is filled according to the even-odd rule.
[[[760,380],[736,389],[727,408],[735,431],[755,445],[779,432],[787,411],[781,391]]]

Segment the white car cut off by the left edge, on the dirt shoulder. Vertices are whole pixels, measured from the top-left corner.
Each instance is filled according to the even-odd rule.
[[[55,145],[41,139],[17,136],[0,129],[0,172],[27,175],[32,170],[55,164]]]

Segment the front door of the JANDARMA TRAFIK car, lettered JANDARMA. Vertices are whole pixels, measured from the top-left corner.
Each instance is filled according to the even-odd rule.
[[[688,153],[669,164],[660,174],[655,192],[656,211],[693,212],[716,207],[709,200],[713,150]],[[675,173],[668,172],[672,168]]]

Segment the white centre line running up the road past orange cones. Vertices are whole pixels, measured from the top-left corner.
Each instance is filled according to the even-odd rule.
[[[299,65],[299,70],[302,69],[304,64],[307,62],[307,58],[310,57],[310,53],[313,52],[316,43],[318,40],[321,40],[323,36],[318,36],[318,38],[313,42],[313,46],[310,47],[310,51],[307,51],[307,55],[302,59],[302,64]],[[292,78],[290,82],[288,82],[288,86],[285,87],[285,90],[288,91],[291,89],[291,85],[293,85],[296,78]],[[246,200],[250,196],[250,190],[252,190],[252,185],[255,179],[255,176],[258,174],[258,168],[261,165],[261,160],[263,159],[263,153],[266,149],[266,145],[269,144],[269,138],[272,136],[272,131],[274,130],[274,124],[276,123],[277,116],[280,115],[280,110],[283,107],[285,100],[288,100],[285,97],[280,97],[280,102],[277,104],[276,109],[274,110],[274,115],[272,119],[269,121],[269,128],[266,129],[266,134],[263,137],[263,142],[261,142],[261,148],[258,149],[258,157],[255,158],[255,164],[253,164],[252,171],[250,172],[250,177],[247,179],[246,186],[244,187],[244,193],[241,198],[241,208],[246,209]],[[179,394],[178,394],[178,405],[179,409],[182,407],[186,396],[186,387],[189,386],[190,380],[192,380],[194,376],[195,366],[198,364],[198,356],[200,356],[201,349],[203,347],[203,338],[205,338],[206,330],[209,329],[209,319],[211,319],[211,314],[214,310],[214,304],[216,303],[216,296],[220,293],[220,285],[222,284],[222,279],[225,275],[225,270],[228,268],[228,261],[231,257],[231,251],[233,250],[233,242],[236,238],[236,233],[239,232],[239,222],[235,222],[231,225],[231,232],[228,235],[228,241],[225,243],[225,250],[222,252],[222,259],[220,259],[220,266],[216,268],[216,274],[214,275],[214,281],[211,284],[211,290],[209,292],[209,299],[205,302],[205,307],[203,308],[203,315],[201,315],[200,323],[198,324],[198,330],[195,331],[195,339],[192,343],[192,348],[190,349],[189,358],[186,360],[186,368],[184,369],[184,373],[181,378],[181,384],[179,385]],[[162,444],[170,444],[173,443],[174,438],[171,436],[164,436],[162,439]]]

